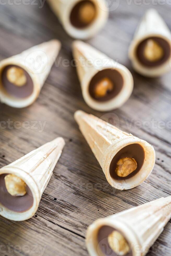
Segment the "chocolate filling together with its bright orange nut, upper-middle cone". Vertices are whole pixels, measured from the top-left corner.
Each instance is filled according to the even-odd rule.
[[[103,69],[90,81],[89,93],[96,101],[108,101],[116,97],[123,87],[123,77],[116,69]]]

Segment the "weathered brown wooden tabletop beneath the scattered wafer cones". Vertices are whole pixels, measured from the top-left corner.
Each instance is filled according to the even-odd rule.
[[[35,3],[38,4],[38,1]],[[158,79],[141,77],[133,71],[127,52],[139,19],[149,7],[156,8],[171,29],[171,5],[166,2],[163,5],[137,3],[120,1],[119,7],[110,11],[105,28],[88,42],[131,70],[135,82],[133,94],[124,106],[113,113],[118,116],[122,130],[154,146],[154,171],[143,184],[132,190],[117,191],[108,185],[73,119],[77,109],[98,117],[104,113],[92,110],[84,102],[74,67],[64,67],[62,63],[59,67],[53,66],[39,98],[32,106],[14,109],[0,105],[0,121],[10,119],[13,128],[0,129],[0,167],[57,136],[66,141],[36,215],[20,223],[0,217],[0,255],[86,256],[85,233],[94,220],[170,195],[171,73]],[[47,3],[43,8],[39,6],[0,5],[1,60],[52,38],[62,42],[57,60],[59,57],[72,60],[73,39],[64,32]],[[136,120],[143,123],[152,119],[163,121],[165,128],[145,127],[148,123],[144,123],[137,129],[134,125]],[[15,121],[23,123],[25,120],[30,124],[37,120],[46,121],[43,132],[39,132],[38,125],[38,129],[14,127]],[[148,256],[169,256],[170,239],[171,222]]]

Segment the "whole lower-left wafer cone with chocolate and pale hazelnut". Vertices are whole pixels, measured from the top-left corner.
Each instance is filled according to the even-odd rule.
[[[35,214],[64,144],[56,138],[0,169],[0,215],[22,221]]]

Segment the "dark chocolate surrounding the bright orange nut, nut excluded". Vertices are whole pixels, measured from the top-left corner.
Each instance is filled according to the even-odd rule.
[[[97,83],[99,83],[103,78],[109,78],[114,85],[112,91],[109,91],[104,97],[96,97],[95,96],[95,88]],[[121,73],[119,73],[116,69],[103,69],[99,71],[90,81],[89,84],[89,94],[96,101],[108,101],[112,98],[116,97],[123,87],[123,77]]]

